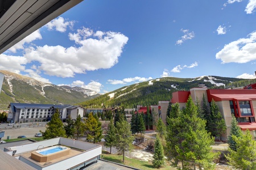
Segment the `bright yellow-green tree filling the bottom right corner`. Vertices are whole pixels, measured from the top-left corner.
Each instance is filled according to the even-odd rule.
[[[237,143],[237,151],[228,148],[228,164],[236,169],[256,169],[256,142],[252,139],[250,131],[247,129],[246,134],[242,134],[241,137],[232,135],[232,138]]]

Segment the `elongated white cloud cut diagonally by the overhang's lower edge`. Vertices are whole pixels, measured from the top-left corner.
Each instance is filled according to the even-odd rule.
[[[42,39],[42,35],[38,30],[36,30],[35,32],[31,33],[30,35],[28,35],[27,37],[25,37],[23,40],[19,41],[17,44],[15,44],[14,46],[12,46],[11,48],[9,48],[9,50],[13,53],[16,53],[16,50],[18,49],[24,49],[24,44],[25,43],[30,43],[34,40],[40,40]]]

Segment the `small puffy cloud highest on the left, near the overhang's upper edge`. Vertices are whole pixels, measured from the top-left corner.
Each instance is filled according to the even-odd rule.
[[[56,19],[51,20],[51,22],[46,24],[46,27],[49,30],[53,30],[54,28],[56,31],[59,32],[65,32],[67,30],[67,27],[73,27],[74,21],[65,21],[64,18],[58,17]]]

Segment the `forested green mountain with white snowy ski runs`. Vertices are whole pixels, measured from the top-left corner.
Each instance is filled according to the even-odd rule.
[[[158,78],[148,82],[125,86],[87,100],[80,105],[92,108],[121,106],[135,108],[136,105],[158,105],[159,101],[170,101],[172,92],[188,91],[194,87],[237,88],[256,83],[256,79],[226,78],[221,76],[200,76],[197,78]]]

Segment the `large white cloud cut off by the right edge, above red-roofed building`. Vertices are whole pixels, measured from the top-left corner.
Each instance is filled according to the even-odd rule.
[[[238,39],[226,44],[216,54],[216,59],[222,63],[246,63],[256,59],[256,32],[250,33],[247,38]]]

